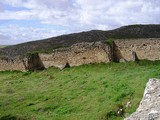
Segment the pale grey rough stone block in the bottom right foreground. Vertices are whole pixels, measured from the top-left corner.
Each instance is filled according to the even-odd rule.
[[[125,120],[160,120],[160,80],[148,81],[138,109]]]

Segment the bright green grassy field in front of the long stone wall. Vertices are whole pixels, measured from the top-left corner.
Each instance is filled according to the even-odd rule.
[[[0,72],[0,120],[122,120],[159,71],[159,61],[140,61]],[[124,115],[114,116],[128,101]]]

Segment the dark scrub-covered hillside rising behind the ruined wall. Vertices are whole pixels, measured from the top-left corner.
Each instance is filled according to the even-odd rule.
[[[23,56],[31,51],[52,51],[80,42],[105,41],[108,38],[160,38],[160,25],[129,25],[114,30],[92,30],[88,32],[61,35],[39,41],[32,41],[0,49],[0,55]]]

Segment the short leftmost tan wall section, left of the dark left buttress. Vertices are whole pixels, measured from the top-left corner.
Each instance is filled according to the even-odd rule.
[[[25,59],[0,59],[0,71],[19,70],[26,71]]]

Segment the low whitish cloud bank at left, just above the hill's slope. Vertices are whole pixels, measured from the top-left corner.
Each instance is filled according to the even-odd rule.
[[[65,30],[56,31],[48,28],[25,28],[15,25],[0,26],[0,44],[17,44],[65,33]]]

